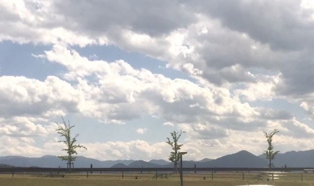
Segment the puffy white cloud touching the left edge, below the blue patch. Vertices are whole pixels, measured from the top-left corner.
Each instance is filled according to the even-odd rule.
[[[13,76],[1,76],[0,81],[0,116],[4,117],[75,112],[81,98],[69,83],[54,76],[45,82]]]

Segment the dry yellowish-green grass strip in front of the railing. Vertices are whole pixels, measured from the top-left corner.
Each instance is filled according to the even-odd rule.
[[[184,178],[183,186],[239,186],[246,184],[267,184],[273,186],[314,186],[314,182],[289,181],[237,181],[237,180],[202,180]],[[36,176],[1,175],[1,186],[180,186],[180,179],[121,179],[104,177],[65,177],[50,178]]]

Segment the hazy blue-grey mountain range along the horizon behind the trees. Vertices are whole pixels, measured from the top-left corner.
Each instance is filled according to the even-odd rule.
[[[173,163],[165,160],[107,160],[99,161],[97,159],[76,156],[74,162],[75,168],[172,168]],[[272,160],[274,167],[314,167],[314,150],[309,151],[291,151],[278,153]],[[266,168],[268,161],[265,155],[256,156],[248,151],[240,151],[225,155],[217,159],[205,158],[200,161],[183,161],[183,167],[197,166],[199,168]],[[66,162],[57,156],[45,155],[42,157],[23,157],[23,156],[4,156],[0,157],[0,164],[15,167],[45,167],[45,168],[66,168]]]

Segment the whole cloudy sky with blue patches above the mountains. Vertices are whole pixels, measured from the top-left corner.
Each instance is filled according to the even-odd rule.
[[[314,149],[311,0],[0,0],[0,156]],[[57,122],[57,123],[56,123]]]

